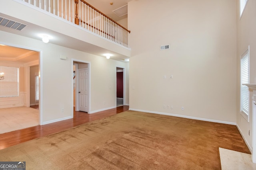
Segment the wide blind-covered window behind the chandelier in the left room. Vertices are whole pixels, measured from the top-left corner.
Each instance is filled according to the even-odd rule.
[[[0,98],[19,96],[19,68],[0,66],[4,80],[0,80]]]

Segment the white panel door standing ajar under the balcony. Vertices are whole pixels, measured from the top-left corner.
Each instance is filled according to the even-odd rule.
[[[78,70],[79,110],[88,112],[88,69]]]

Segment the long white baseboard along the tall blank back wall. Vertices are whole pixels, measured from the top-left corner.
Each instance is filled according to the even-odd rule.
[[[210,121],[210,122],[215,122],[215,123],[224,123],[224,124],[228,124],[228,125],[236,125],[235,122],[229,122],[229,121],[219,121],[219,120],[214,120],[214,119],[204,119],[204,118],[199,118],[199,117],[192,117],[192,116],[185,116],[185,115],[177,115],[177,114],[163,113],[163,112],[156,112],[156,111],[148,111],[148,110],[131,109],[131,108],[129,108],[129,110],[141,111],[141,112],[146,112],[146,113],[155,113],[155,114],[159,114],[159,115],[168,115],[168,116],[175,116],[175,117],[183,117],[183,118],[195,119],[195,120],[202,120],[202,121]]]

